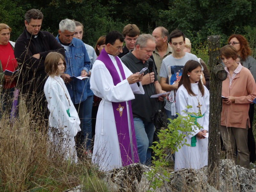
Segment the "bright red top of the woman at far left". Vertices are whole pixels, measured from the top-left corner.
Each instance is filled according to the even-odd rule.
[[[13,48],[9,42],[6,45],[0,44],[0,61],[3,71],[5,69],[9,71],[15,71],[18,66],[17,60],[15,59],[13,54]],[[6,83],[4,81],[4,89],[15,87],[16,83],[16,79],[14,79],[10,83]]]

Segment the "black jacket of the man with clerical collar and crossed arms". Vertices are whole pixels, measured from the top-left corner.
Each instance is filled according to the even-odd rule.
[[[36,38],[28,33],[25,27],[23,33],[15,42],[14,56],[17,58],[20,68],[18,84],[22,88],[23,94],[44,91],[46,80],[44,60],[49,52],[60,52],[65,57],[64,48],[51,33],[39,31]],[[41,52],[38,51],[39,47]],[[40,53],[40,59],[33,57],[37,53]]]

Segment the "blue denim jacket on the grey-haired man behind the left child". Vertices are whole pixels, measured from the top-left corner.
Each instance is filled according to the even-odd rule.
[[[57,41],[60,43],[59,35],[56,37]],[[65,49],[65,60],[67,67],[64,73],[70,76],[80,76],[81,71],[84,69],[89,72],[90,69],[90,58],[87,54],[86,48],[83,41],[80,39],[73,38],[69,44],[69,51]],[[74,104],[79,104],[80,102],[86,100],[87,98],[87,81],[84,80],[72,80],[66,84],[68,93]]]

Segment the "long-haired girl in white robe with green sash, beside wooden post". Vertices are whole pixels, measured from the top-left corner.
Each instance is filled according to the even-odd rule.
[[[187,132],[185,139],[190,146],[183,145],[175,152],[174,170],[182,168],[200,169],[208,164],[208,132],[209,132],[209,96],[208,89],[200,81],[201,68],[199,62],[189,60],[184,68],[176,93],[178,113],[185,112],[201,115],[196,118],[192,132]],[[192,108],[187,108],[191,105]],[[185,111],[185,112],[184,112]],[[197,125],[203,128],[199,129]],[[206,134],[207,133],[207,134]]]

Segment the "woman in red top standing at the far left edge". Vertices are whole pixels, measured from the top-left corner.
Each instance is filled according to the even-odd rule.
[[[13,92],[17,83],[16,79],[10,74],[10,72],[9,74],[3,73],[5,70],[14,72],[17,68],[17,61],[13,54],[14,42],[10,41],[11,32],[12,29],[8,25],[0,23],[0,89],[2,89],[1,117],[4,115],[4,112],[10,115]]]

